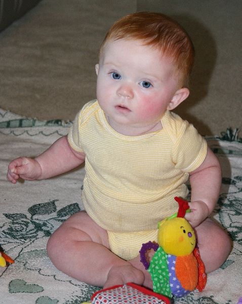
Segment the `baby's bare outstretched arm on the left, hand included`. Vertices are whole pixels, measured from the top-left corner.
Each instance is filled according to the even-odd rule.
[[[55,141],[49,149],[35,159],[20,157],[9,164],[7,179],[16,183],[19,177],[25,180],[50,178],[73,168],[85,161],[85,154],[71,148],[67,136]]]

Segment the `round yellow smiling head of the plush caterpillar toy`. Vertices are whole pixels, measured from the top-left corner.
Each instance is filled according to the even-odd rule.
[[[185,218],[166,218],[159,223],[158,244],[167,254],[182,256],[193,251],[196,238],[191,225]]]

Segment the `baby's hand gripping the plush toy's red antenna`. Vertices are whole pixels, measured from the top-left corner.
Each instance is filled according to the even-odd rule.
[[[192,227],[198,226],[209,215],[209,208],[202,201],[190,202],[189,208],[191,212],[186,213],[185,219],[189,221]]]

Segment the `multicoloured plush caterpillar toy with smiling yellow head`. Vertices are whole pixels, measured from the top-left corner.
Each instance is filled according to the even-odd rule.
[[[197,288],[202,291],[207,275],[196,238],[189,222],[184,218],[190,212],[188,203],[175,197],[178,213],[158,223],[158,244],[148,242],[140,250],[141,262],[151,275],[153,290],[169,298],[184,296]],[[146,252],[155,251],[150,263]]]

